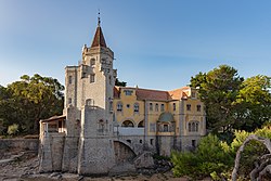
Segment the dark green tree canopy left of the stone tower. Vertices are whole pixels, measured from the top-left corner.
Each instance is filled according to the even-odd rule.
[[[23,75],[20,81],[0,87],[0,119],[7,128],[17,124],[21,131],[37,133],[40,119],[62,114],[64,87],[57,79]]]

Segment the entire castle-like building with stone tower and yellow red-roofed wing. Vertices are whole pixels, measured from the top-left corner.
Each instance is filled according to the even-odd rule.
[[[193,150],[206,133],[197,90],[117,87],[99,18],[77,66],[65,68],[62,116],[40,121],[40,171],[107,174],[140,155]]]

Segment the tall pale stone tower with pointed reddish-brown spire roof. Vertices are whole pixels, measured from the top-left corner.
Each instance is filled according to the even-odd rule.
[[[113,61],[114,53],[106,46],[99,17],[91,47],[83,46],[79,65],[66,67],[64,171],[106,174],[115,165],[113,89],[117,72],[113,69]],[[68,138],[73,139],[68,141]],[[77,155],[78,164],[74,167],[77,170],[70,166],[70,153]]]

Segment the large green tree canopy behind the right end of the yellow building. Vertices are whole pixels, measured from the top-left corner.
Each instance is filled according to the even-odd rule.
[[[191,86],[199,88],[207,128],[212,132],[253,131],[271,118],[270,77],[258,75],[245,80],[237,69],[220,65],[192,77]]]

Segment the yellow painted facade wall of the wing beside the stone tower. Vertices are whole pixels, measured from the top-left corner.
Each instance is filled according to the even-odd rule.
[[[173,101],[142,101],[137,100],[134,88],[122,88],[120,89],[120,94],[118,99],[114,99],[113,106],[116,120],[121,126],[121,124],[126,120],[130,120],[133,122],[133,127],[138,127],[140,121],[145,120],[145,116],[147,117],[149,129],[147,135],[204,135],[206,130],[205,125],[205,111],[204,104],[197,99],[196,92],[194,92],[194,98],[191,98],[192,90],[189,93],[188,99],[183,100],[173,100]],[[122,109],[118,111],[117,105],[122,105]],[[152,103],[152,108],[150,106]],[[139,112],[134,112],[134,104],[139,105]],[[158,105],[158,108],[156,107]],[[162,104],[164,104],[164,109],[162,109]],[[190,105],[191,109],[188,109],[188,105]],[[197,108],[201,106],[201,109]],[[175,132],[158,132],[157,131],[157,120],[162,113],[168,112],[173,115],[175,119]],[[197,122],[197,131],[191,131],[189,129],[189,125],[192,122]],[[181,122],[181,124],[180,124]]]

